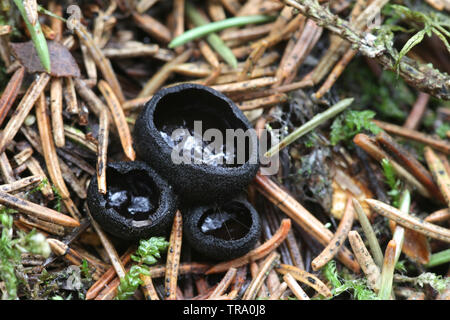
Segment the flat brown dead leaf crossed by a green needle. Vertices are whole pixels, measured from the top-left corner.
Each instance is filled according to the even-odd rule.
[[[27,72],[45,72],[32,41],[11,43],[14,56],[22,63]],[[80,69],[70,51],[62,44],[47,41],[50,54],[51,72],[54,77],[80,77]]]

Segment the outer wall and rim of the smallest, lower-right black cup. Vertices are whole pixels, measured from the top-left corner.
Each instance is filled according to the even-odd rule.
[[[251,225],[248,232],[241,238],[235,240],[224,240],[206,234],[201,230],[204,215],[208,211],[230,210],[230,206],[240,206],[241,210],[246,211],[248,218],[251,220]],[[252,250],[258,241],[261,234],[261,222],[258,212],[247,200],[234,199],[225,204],[220,205],[205,205],[193,207],[186,210],[184,215],[184,236],[191,247],[204,255],[205,257],[217,260],[231,260],[241,257]]]

